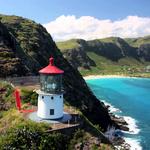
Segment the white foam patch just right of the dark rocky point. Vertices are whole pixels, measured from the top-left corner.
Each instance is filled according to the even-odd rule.
[[[126,133],[138,134],[140,132],[140,129],[136,125],[137,121],[135,119],[129,116],[124,116],[123,118],[128,123],[127,127],[129,128],[129,132]]]

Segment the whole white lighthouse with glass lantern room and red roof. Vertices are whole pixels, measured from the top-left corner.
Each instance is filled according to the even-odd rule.
[[[42,119],[60,119],[63,117],[63,70],[54,65],[54,59],[49,59],[49,65],[39,71],[40,90],[38,93],[37,116]]]

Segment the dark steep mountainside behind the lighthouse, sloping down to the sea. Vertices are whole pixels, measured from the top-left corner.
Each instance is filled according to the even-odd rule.
[[[80,73],[62,56],[44,27],[21,17],[4,15],[0,17],[2,22],[0,25],[3,26],[0,27],[1,31],[7,35],[5,37],[1,34],[0,42],[3,42],[3,47],[11,51],[10,59],[18,60],[18,65],[14,69],[13,63],[6,58],[11,68],[8,75],[38,74],[38,70],[48,64],[48,59],[52,55],[55,64],[65,71],[63,77],[65,100],[79,108],[90,121],[99,124],[104,129],[113,124],[107,109],[93,95]],[[0,46],[0,49],[5,52],[3,47]],[[1,53],[0,57],[4,59]],[[6,62],[0,61],[0,65],[3,64]],[[3,69],[6,69],[5,65]],[[6,76],[2,70],[0,74],[2,77]]]

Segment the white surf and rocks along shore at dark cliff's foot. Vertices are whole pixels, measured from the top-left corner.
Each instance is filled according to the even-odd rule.
[[[120,129],[114,130],[114,133],[118,134],[117,137],[119,137],[119,138],[116,138],[114,136],[113,143],[115,144],[115,148],[117,150],[120,150],[120,149],[142,150],[141,143],[139,142],[138,139],[124,136],[124,134],[136,135],[140,132],[140,129],[136,125],[136,120],[130,116],[122,115],[122,111],[119,108],[116,108],[115,106],[113,106],[111,103],[108,103],[105,100],[102,100],[102,102],[107,107],[108,113],[111,119],[120,126]],[[119,114],[116,114],[116,113],[119,113]]]

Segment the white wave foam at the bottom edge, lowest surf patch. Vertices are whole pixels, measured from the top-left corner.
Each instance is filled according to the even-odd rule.
[[[140,141],[138,139],[132,139],[132,138],[124,138],[124,139],[126,143],[128,143],[131,146],[130,150],[142,150]]]

